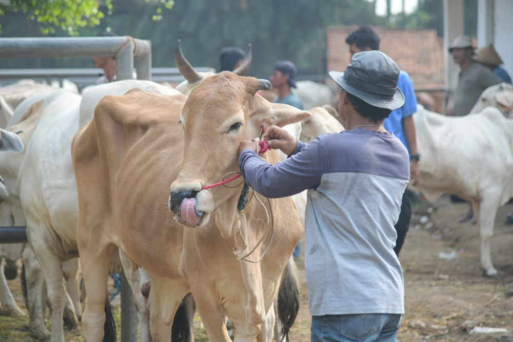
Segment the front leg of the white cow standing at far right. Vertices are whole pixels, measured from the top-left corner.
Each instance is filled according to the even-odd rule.
[[[481,203],[472,203],[474,214],[479,223],[479,233],[481,235],[481,266],[484,269],[483,274],[488,277],[496,277],[497,270],[491,262],[490,240],[494,234],[495,216],[499,205],[494,200],[489,200],[483,196]]]

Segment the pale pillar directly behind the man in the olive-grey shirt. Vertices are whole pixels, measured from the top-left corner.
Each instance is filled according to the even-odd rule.
[[[456,86],[459,66],[452,61],[449,45],[455,37],[463,34],[463,0],[444,0],[444,65],[445,89],[451,90]],[[446,97],[445,97],[446,99]],[[446,112],[446,103],[443,105]]]

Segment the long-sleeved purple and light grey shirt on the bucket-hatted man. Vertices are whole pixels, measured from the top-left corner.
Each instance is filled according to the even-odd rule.
[[[305,269],[312,316],[404,313],[394,225],[409,179],[406,148],[392,133],[355,129],[298,140],[270,165],[246,149],[244,179],[267,197],[308,189]]]

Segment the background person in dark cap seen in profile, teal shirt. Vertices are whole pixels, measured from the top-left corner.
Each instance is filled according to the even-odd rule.
[[[272,89],[278,92],[274,103],[283,103],[295,108],[303,109],[301,100],[290,91],[290,88],[297,88],[295,78],[298,75],[298,69],[290,61],[279,61],[274,66],[271,75]]]

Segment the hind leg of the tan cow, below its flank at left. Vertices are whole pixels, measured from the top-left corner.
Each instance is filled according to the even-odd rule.
[[[80,237],[80,230],[79,223],[77,228],[78,237]],[[88,342],[100,342],[104,338],[107,278],[114,249],[114,245],[105,246],[105,244],[98,243],[97,241],[78,239],[80,266],[86,287],[82,325],[84,327],[85,340]]]

